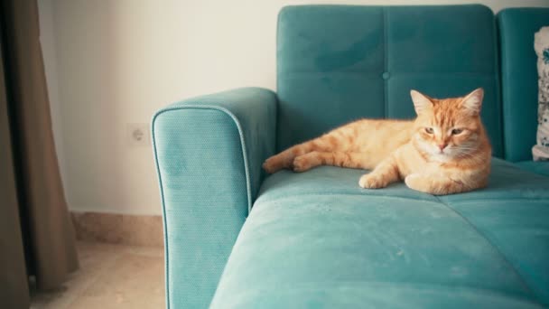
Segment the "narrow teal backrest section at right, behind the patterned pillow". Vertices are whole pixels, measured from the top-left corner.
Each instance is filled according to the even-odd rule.
[[[498,14],[504,154],[532,160],[537,129],[537,56],[534,33],[549,25],[549,8],[509,8]]]

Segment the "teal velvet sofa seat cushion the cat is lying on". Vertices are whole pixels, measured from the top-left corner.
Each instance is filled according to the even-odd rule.
[[[362,173],[267,178],[212,307],[547,304],[549,183],[532,181],[542,176],[494,160],[488,189],[439,198],[403,183],[363,190]]]

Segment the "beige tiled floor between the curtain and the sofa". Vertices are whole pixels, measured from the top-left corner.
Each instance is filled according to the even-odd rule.
[[[31,308],[164,308],[163,248],[79,242],[79,271]]]

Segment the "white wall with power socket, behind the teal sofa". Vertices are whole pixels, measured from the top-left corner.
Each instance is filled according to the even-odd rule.
[[[478,2],[495,12],[549,6]],[[276,15],[284,5],[311,3],[470,1],[39,0],[70,209],[161,213],[152,148],[128,146],[126,123],[148,123],[156,109],[181,98],[243,86],[275,89]]]

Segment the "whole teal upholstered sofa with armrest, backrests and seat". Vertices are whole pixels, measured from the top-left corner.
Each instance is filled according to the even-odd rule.
[[[169,308],[549,305],[549,177],[535,143],[534,32],[548,9],[285,7],[277,90],[159,110]],[[237,74],[237,72],[236,72]],[[267,175],[270,155],[359,117],[414,117],[410,89],[485,89],[489,187],[433,196],[364,171]]]

